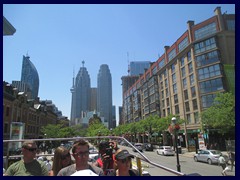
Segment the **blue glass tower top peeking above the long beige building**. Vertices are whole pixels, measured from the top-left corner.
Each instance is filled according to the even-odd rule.
[[[145,69],[150,68],[150,61],[132,61],[130,62],[130,76],[138,76],[143,74]]]

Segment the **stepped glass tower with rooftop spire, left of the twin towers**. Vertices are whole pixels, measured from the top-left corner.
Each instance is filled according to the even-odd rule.
[[[71,125],[76,125],[77,119],[83,118],[90,109],[90,76],[84,63],[82,61],[82,67],[78,71],[76,79],[73,77]]]

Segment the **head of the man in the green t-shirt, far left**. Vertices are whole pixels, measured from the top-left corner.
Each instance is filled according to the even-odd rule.
[[[22,154],[24,160],[33,160],[36,157],[37,145],[34,141],[24,141],[22,144]]]

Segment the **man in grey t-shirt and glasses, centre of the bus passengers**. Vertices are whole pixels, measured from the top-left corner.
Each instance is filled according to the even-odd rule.
[[[97,175],[103,175],[103,170],[92,163],[89,163],[89,144],[84,139],[79,139],[74,142],[72,147],[72,156],[75,159],[75,163],[61,169],[57,176],[71,176],[76,171],[91,170]]]

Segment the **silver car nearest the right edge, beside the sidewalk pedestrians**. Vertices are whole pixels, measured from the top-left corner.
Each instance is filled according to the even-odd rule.
[[[207,162],[208,164],[217,164],[218,158],[221,152],[218,150],[199,150],[197,154],[194,155],[194,161]]]

